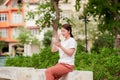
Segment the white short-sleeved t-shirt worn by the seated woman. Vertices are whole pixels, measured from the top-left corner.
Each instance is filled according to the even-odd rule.
[[[65,49],[75,48],[75,51],[72,56],[69,56],[59,48],[60,58],[59,58],[58,63],[66,63],[66,64],[74,65],[74,56],[75,56],[76,48],[77,48],[77,43],[76,43],[75,39],[70,37],[68,40],[61,41],[61,45]]]

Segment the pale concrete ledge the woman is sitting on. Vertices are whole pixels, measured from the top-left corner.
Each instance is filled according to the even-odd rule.
[[[45,69],[0,67],[0,80],[45,80],[44,72]],[[60,80],[93,80],[93,72],[74,70]]]

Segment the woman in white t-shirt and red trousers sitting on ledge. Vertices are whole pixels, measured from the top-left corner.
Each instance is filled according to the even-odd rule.
[[[58,41],[58,36],[53,38],[52,52],[59,51],[59,61],[55,66],[45,71],[46,80],[59,80],[59,78],[74,69],[74,56],[77,43],[72,35],[71,25],[64,24],[61,28],[61,34],[64,40]]]

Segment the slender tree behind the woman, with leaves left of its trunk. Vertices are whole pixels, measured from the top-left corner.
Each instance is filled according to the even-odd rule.
[[[35,12],[28,12],[27,19],[34,19],[37,16],[36,25],[42,28],[52,26],[53,34],[57,34],[60,20],[58,3],[59,0],[47,0],[39,4]]]

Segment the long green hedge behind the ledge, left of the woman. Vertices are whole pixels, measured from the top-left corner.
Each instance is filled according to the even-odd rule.
[[[20,66],[47,68],[57,63],[58,53],[51,53],[50,47],[44,48],[39,54],[33,54],[32,57],[17,56],[8,58],[5,66]]]

